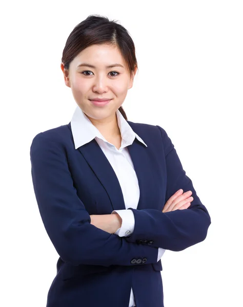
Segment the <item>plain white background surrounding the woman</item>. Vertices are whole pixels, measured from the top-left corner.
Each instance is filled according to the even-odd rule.
[[[58,255],[30,145],[70,122],[76,102],[60,59],[73,28],[100,14],[135,43],[128,120],[167,131],[211,215],[204,242],[162,257],[165,307],[242,306],[242,1],[12,1],[1,12],[0,305],[46,306]]]

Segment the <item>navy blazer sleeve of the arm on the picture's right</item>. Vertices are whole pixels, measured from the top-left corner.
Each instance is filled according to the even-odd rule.
[[[134,213],[135,225],[128,242],[150,240],[151,247],[160,247],[172,251],[181,251],[203,241],[211,224],[206,207],[201,203],[193,187],[191,179],[186,175],[177,152],[166,131],[157,126],[161,133],[166,160],[167,189],[165,204],[179,189],[191,190],[193,201],[184,210],[162,212],[156,209],[131,209]],[[164,204],[164,205],[165,205]]]

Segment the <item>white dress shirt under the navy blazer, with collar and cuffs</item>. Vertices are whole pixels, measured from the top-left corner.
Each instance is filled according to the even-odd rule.
[[[106,158],[113,167],[120,187],[123,192],[125,210],[114,210],[112,214],[119,214],[122,218],[122,226],[114,233],[120,237],[129,236],[134,230],[134,214],[132,210],[127,208],[137,208],[139,200],[139,186],[136,172],[133,167],[127,146],[131,145],[135,139],[145,144],[145,142],[132,130],[122,113],[116,111],[117,124],[122,136],[122,144],[117,149],[113,144],[109,143],[99,130],[92,124],[83,110],[77,105],[71,120],[72,135],[75,149],[92,141],[94,138],[100,148],[103,150]],[[146,145],[146,144],[145,144]],[[147,145],[146,145],[147,146]],[[165,249],[158,248],[157,261],[163,256]],[[135,306],[133,290],[131,289],[129,307]]]

